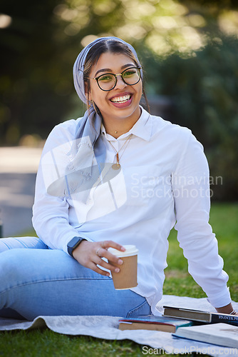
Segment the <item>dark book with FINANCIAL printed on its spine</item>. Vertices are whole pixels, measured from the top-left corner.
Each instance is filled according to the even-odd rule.
[[[175,308],[164,306],[165,311],[163,316],[188,319],[202,323],[229,323],[230,325],[238,326],[238,316],[229,315],[228,313],[215,313],[199,310],[191,310],[189,308]]]

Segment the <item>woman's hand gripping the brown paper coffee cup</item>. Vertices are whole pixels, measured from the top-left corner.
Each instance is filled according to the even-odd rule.
[[[121,265],[123,263],[120,258],[113,256],[113,254],[108,252],[108,248],[110,247],[118,249],[118,251],[125,251],[125,248],[123,246],[113,241],[82,241],[79,246],[74,249],[73,258],[75,258],[78,263],[81,263],[81,265],[85,266],[86,268],[90,268],[101,275],[110,276],[110,273],[108,273],[108,271],[103,271],[98,267],[98,265],[110,271],[115,271],[115,273],[118,273],[120,271],[120,268],[113,266],[110,263],[115,263],[118,265]],[[105,262],[102,259],[103,257],[107,258],[110,263]]]

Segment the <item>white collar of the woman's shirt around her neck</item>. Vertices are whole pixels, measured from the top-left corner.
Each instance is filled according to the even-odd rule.
[[[128,133],[121,135],[118,139],[124,139],[125,136],[133,134],[135,136],[138,136],[141,139],[150,141],[150,137],[151,137],[151,133],[152,133],[152,119],[151,119],[148,111],[143,109],[142,106],[140,106],[140,109],[141,109],[141,115],[140,115],[140,118],[138,119],[138,121],[128,131]],[[103,124],[101,126],[101,133],[105,134],[105,136],[108,135],[108,134],[106,134],[105,127]]]

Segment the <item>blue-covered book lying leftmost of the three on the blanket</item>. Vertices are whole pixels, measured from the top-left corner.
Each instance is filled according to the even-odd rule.
[[[183,321],[178,318],[166,318],[164,316],[138,316],[138,318],[120,318],[120,330],[155,330],[175,332],[179,326],[191,326],[191,321]]]

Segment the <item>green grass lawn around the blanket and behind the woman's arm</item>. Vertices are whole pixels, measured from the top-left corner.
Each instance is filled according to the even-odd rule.
[[[219,254],[224,258],[224,270],[229,274],[228,285],[234,301],[238,301],[237,217],[238,203],[212,204],[210,223],[218,239]],[[28,232],[27,235],[34,235],[34,233]],[[164,293],[194,298],[205,297],[205,293],[187,273],[187,261],[182,255],[182,249],[178,246],[175,230],[170,233],[169,241]],[[48,329],[0,333],[0,356],[4,357],[149,356],[143,354],[142,348],[143,346],[133,341],[108,341],[90,336],[64,336]],[[165,354],[165,356],[176,355]]]

